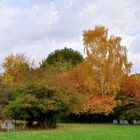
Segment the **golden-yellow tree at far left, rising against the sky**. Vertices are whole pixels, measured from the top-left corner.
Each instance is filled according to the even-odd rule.
[[[20,80],[23,73],[28,73],[31,65],[23,54],[16,54],[7,56],[2,63],[2,67],[4,69],[4,81],[11,84]]]

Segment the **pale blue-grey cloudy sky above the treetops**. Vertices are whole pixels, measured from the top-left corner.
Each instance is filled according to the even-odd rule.
[[[82,32],[95,25],[123,38],[140,72],[140,0],[0,0],[0,63],[24,53],[38,64],[65,46],[83,53]]]

